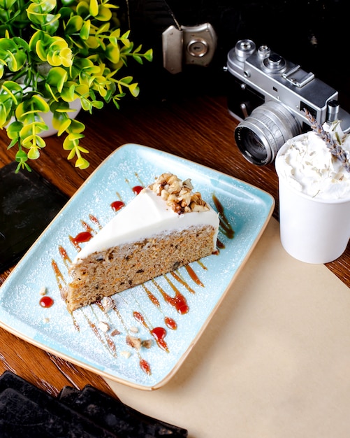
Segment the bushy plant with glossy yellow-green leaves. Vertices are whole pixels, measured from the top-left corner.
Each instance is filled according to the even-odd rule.
[[[121,71],[129,58],[151,61],[152,49],[141,52],[122,33],[117,8],[109,0],[0,0],[0,128],[17,148],[17,171],[30,170],[45,147],[50,111],[68,160],[86,169],[85,125],[72,118],[73,102],[92,113],[138,96],[138,83]]]

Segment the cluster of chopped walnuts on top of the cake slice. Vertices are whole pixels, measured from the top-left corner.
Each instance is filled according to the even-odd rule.
[[[175,213],[189,213],[191,211],[207,211],[209,206],[202,199],[199,192],[192,192],[193,185],[188,178],[181,181],[174,174],[161,174],[150,185],[156,195],[160,196]]]

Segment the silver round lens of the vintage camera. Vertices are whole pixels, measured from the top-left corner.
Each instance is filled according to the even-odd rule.
[[[235,141],[251,163],[264,166],[277,155],[281,146],[301,134],[301,126],[286,106],[268,101],[258,106],[235,129]]]

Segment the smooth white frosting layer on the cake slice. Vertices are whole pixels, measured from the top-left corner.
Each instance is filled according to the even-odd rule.
[[[80,250],[74,262],[88,255],[107,250],[124,243],[140,241],[155,234],[187,229],[191,226],[212,225],[219,228],[219,213],[209,204],[207,211],[191,211],[177,214],[150,188],[141,192],[116,214],[101,231]],[[216,248],[217,232],[213,238]]]

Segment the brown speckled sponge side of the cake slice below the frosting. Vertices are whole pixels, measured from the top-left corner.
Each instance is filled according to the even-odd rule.
[[[207,225],[189,227],[90,254],[71,269],[68,311],[211,255],[217,250],[213,245],[216,231]]]

